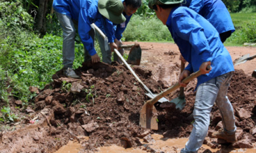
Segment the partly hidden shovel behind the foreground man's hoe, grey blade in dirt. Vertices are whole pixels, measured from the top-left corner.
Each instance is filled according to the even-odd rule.
[[[185,68],[185,64],[181,61],[180,65],[181,65],[180,66],[180,73],[182,73],[182,71]],[[170,100],[170,103],[174,103],[176,105],[176,109],[180,109],[180,110],[183,109],[183,107],[186,104],[185,95],[184,95],[184,87],[180,87],[179,97],[177,97],[173,100]]]

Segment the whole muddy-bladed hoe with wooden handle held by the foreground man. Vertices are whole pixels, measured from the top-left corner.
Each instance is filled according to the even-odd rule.
[[[207,66],[207,69],[210,69],[210,65]],[[189,83],[191,80],[199,77],[201,74],[202,72],[199,70],[189,75],[189,77],[185,78],[182,81],[182,83]],[[157,110],[154,104],[157,103],[158,99],[160,99],[163,96],[166,96],[170,92],[175,91],[179,87],[180,87],[180,84],[176,83],[172,87],[169,87],[168,89],[164,90],[162,93],[158,94],[153,99],[146,101],[146,104],[144,104],[140,110],[140,126],[141,127],[144,127],[146,129],[151,129],[151,130],[158,130]]]

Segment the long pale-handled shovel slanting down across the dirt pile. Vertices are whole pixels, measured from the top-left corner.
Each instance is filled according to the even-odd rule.
[[[92,24],[95,28],[95,30],[97,31],[101,31],[97,25],[95,25],[94,23]],[[100,32],[99,32],[100,33]],[[101,32],[102,33],[102,32]],[[105,37],[105,35],[102,33],[102,37]],[[148,97],[150,98],[155,98],[155,96],[157,94],[153,94],[150,89],[148,89],[146,87],[146,85],[139,79],[138,75],[134,72],[134,70],[131,68],[131,66],[123,59],[122,55],[118,52],[118,50],[116,48],[114,48],[114,52],[117,54],[117,56],[122,60],[122,62],[124,63],[124,65],[131,71],[131,73],[133,74],[133,76],[135,77],[135,79],[143,86],[143,88],[148,92],[145,93]],[[158,98],[157,101],[159,101],[160,103],[163,103],[165,101],[169,101],[168,99],[164,98],[163,96],[161,98]],[[156,102],[157,102],[156,101]]]

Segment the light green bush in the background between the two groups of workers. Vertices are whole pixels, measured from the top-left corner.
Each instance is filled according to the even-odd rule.
[[[125,41],[172,41],[167,27],[157,19],[134,15],[123,33]]]

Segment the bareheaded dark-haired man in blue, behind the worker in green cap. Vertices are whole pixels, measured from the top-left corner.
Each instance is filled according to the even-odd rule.
[[[120,0],[119,0],[120,1]],[[98,32],[96,32],[96,37],[99,42],[100,50],[102,53],[102,61],[104,63],[111,64],[112,60],[112,50],[113,48],[118,49],[119,44],[122,44],[121,38],[122,33],[126,29],[126,26],[128,22],[130,21],[132,15],[138,10],[138,8],[141,6],[141,0],[121,0],[123,3],[123,15],[126,18],[125,22],[122,22],[120,24],[108,24],[107,20],[98,19],[95,24],[99,29],[108,36],[108,42],[110,43],[110,46],[108,44],[105,44],[106,42],[104,39],[99,35]],[[111,22],[111,21],[109,21]],[[109,29],[109,30],[108,30]],[[111,30],[110,30],[111,29]],[[108,46],[108,48],[105,48],[105,46]],[[122,48],[118,49],[119,53],[123,55],[124,50]],[[119,64],[122,64],[122,61],[116,54],[114,54],[114,61],[117,61]]]

